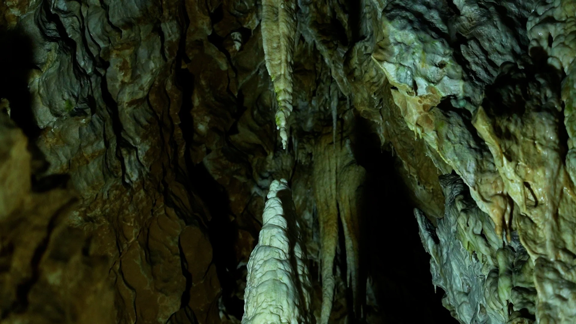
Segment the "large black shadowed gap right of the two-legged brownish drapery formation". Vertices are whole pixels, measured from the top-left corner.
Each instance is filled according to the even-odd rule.
[[[369,122],[358,119],[355,155],[366,168],[363,187],[362,256],[377,307],[367,307],[371,323],[458,323],[434,292],[430,255],[418,235],[408,189],[397,160],[381,149]],[[366,313],[366,312],[365,312]]]

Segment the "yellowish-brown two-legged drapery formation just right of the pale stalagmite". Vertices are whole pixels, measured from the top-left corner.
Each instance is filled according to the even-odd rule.
[[[322,308],[319,323],[326,324],[335,293],[334,258],[338,246],[339,219],[346,247],[346,284],[353,292],[354,311],[359,311],[358,188],[363,183],[366,171],[356,163],[350,140],[334,137],[334,133],[325,133],[317,138],[313,156],[313,188],[320,224]]]

